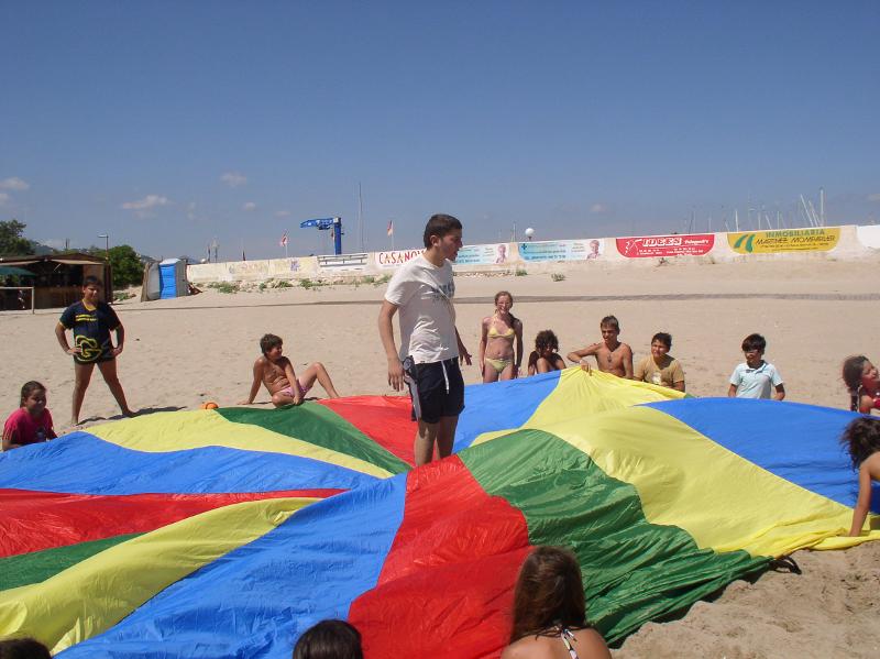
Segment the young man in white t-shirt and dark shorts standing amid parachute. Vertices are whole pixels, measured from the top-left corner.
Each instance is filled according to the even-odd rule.
[[[464,409],[464,380],[459,363],[471,365],[471,354],[455,329],[452,263],[461,249],[461,222],[436,215],[425,227],[425,251],[402,265],[392,277],[378,314],[378,333],[388,358],[388,384],[395,391],[409,385],[416,465],[452,453],[459,414]],[[392,319],[400,311],[400,352]]]

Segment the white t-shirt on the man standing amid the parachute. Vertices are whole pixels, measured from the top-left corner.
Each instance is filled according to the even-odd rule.
[[[425,364],[459,356],[454,295],[449,261],[437,267],[419,254],[394,273],[385,299],[399,307],[400,359]]]

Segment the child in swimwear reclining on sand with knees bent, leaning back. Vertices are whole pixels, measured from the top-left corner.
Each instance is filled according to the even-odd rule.
[[[275,407],[301,404],[316,380],[327,392],[328,397],[339,398],[330,375],[321,362],[309,364],[302,375],[297,377],[290,360],[282,355],[283,345],[280,337],[275,334],[265,334],[260,339],[260,350],[263,351],[263,356],[254,362],[254,382],[251,385],[251,394],[240,405],[250,405],[254,402],[261,382],[272,394],[272,404]]]

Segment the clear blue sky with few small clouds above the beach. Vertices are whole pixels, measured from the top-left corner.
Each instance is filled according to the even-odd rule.
[[[878,2],[0,2],[0,219],[153,256],[880,221]],[[322,238],[324,239],[322,241]]]

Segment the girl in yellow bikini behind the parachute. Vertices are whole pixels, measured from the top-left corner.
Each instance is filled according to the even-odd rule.
[[[480,372],[483,374],[483,382],[513,380],[519,374],[522,362],[522,322],[510,314],[513,306],[513,295],[506,290],[496,293],[495,314],[481,322]]]

